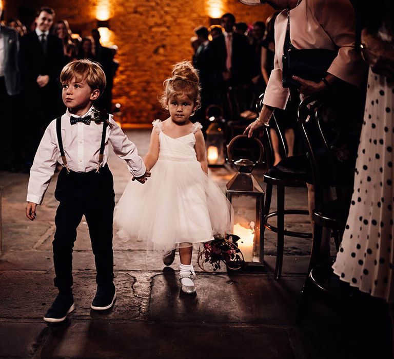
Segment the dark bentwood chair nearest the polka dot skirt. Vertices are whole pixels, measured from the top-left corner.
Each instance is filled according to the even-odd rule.
[[[329,282],[332,263],[322,262],[322,231],[323,227],[331,230],[338,251],[350,206],[349,201],[341,197],[337,181],[338,171],[334,164],[333,153],[326,141],[321,112],[320,102],[312,97],[304,99],[298,111],[298,122],[308,149],[315,193],[315,209],[312,212],[314,223],[312,251],[303,288],[304,300],[310,285],[333,294],[333,291],[325,285],[327,283],[324,283]],[[336,199],[324,201],[324,188],[327,186],[335,189]]]

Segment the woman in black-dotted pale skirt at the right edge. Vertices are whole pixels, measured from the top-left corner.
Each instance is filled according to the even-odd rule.
[[[369,75],[354,192],[333,269],[350,286],[383,298],[394,328],[394,3],[354,7]]]

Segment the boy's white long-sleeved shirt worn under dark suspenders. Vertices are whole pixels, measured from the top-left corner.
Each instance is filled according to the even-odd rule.
[[[93,116],[92,108],[81,117],[86,115]],[[67,166],[71,171],[81,173],[96,170],[99,163],[103,123],[96,124],[92,119],[90,125],[82,122],[71,125],[70,116],[68,109],[62,116],[62,140]],[[107,126],[106,129],[104,159],[101,166],[103,167],[108,161],[108,143],[111,143],[115,154],[126,161],[130,173],[135,177],[142,176],[146,168],[136,146],[116,124],[112,115],[109,122],[112,128]],[[54,119],[44,133],[30,169],[28,202],[41,205],[57,162],[63,165],[57,143],[56,119]]]

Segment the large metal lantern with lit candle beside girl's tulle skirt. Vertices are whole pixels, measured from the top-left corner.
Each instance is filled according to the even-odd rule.
[[[241,140],[241,141],[240,141]],[[236,144],[242,142],[241,154],[250,154],[249,145],[259,148],[258,159],[234,158]],[[254,143],[253,143],[254,142]],[[264,266],[263,223],[264,190],[253,176],[256,165],[263,162],[264,149],[258,138],[235,136],[228,145],[228,159],[238,170],[226,185],[226,196],[234,208],[233,231],[240,237],[238,248],[242,251],[246,266]]]

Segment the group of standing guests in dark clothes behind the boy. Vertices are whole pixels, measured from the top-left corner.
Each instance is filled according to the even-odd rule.
[[[96,106],[108,112],[119,67],[116,46],[103,46],[99,30],[73,37],[67,20],[56,20],[51,8],[39,9],[29,29],[16,18],[0,25],[0,37],[7,39],[0,48],[0,119],[5,129],[0,170],[11,172],[29,171],[43,131],[64,113],[58,78],[68,62],[89,58],[101,64],[107,87]]]

